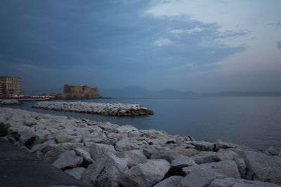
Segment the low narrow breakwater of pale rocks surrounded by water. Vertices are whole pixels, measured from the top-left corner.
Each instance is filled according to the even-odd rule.
[[[55,111],[73,111],[79,113],[96,113],[112,116],[152,115],[153,111],[140,104],[94,103],[94,102],[38,102],[34,108]]]

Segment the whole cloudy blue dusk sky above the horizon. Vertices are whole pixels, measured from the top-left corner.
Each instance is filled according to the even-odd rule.
[[[281,91],[280,0],[2,0],[0,75],[63,84]]]

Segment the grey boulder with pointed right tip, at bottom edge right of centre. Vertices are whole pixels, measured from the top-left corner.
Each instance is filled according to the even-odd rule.
[[[178,187],[207,187],[211,181],[214,181],[214,179],[223,179],[226,177],[228,176],[221,173],[196,168],[178,183]]]

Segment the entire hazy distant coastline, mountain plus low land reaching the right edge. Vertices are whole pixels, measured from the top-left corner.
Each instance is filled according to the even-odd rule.
[[[215,93],[195,93],[183,92],[174,89],[147,90],[139,85],[131,85],[118,89],[100,89],[102,97],[119,98],[185,98],[185,97],[207,97],[207,96],[281,96],[281,92],[215,92]]]

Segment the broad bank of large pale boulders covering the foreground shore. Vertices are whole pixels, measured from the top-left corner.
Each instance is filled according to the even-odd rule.
[[[93,186],[280,186],[281,154],[0,107],[6,139]]]

